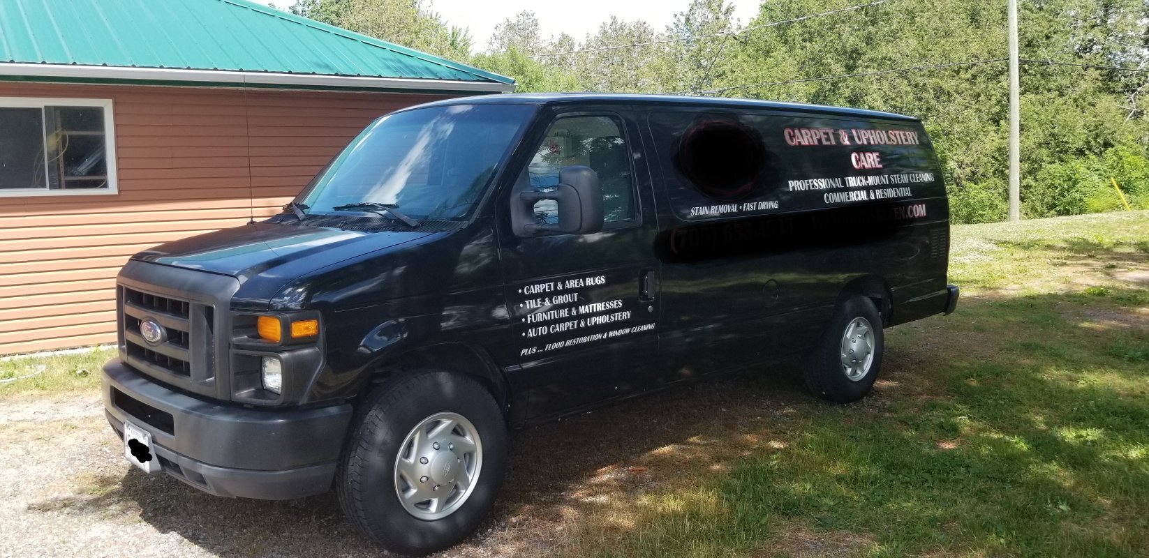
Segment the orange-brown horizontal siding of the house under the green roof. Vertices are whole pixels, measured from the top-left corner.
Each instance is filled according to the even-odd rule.
[[[0,83],[111,99],[118,194],[0,197],[0,354],[115,341],[115,277],[154,245],[280,211],[373,118],[438,96]]]

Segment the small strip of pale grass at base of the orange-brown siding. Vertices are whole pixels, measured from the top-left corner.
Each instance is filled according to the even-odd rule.
[[[100,369],[115,356],[113,348],[93,348],[8,357],[0,361],[0,398],[91,390],[100,385]]]

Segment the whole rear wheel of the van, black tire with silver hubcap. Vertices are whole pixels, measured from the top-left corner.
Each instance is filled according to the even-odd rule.
[[[805,383],[834,403],[865,397],[881,370],[881,316],[873,301],[848,299],[834,311],[805,369]]]

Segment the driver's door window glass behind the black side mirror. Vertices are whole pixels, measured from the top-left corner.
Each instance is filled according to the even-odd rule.
[[[558,171],[572,164],[589,166],[599,175],[608,227],[610,223],[634,218],[631,152],[617,118],[569,116],[556,119],[534,152],[527,166],[527,178],[537,189],[554,187],[558,185]],[[557,208],[552,200],[535,204],[534,215],[540,223],[558,222]]]

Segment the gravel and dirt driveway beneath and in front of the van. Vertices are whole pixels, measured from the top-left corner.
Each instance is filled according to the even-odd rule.
[[[519,431],[491,518],[441,556],[546,555],[586,518],[769,443],[794,404],[818,405],[793,374],[746,373]],[[383,553],[333,493],[228,499],[131,467],[95,392],[0,401],[0,533],[2,557]]]

